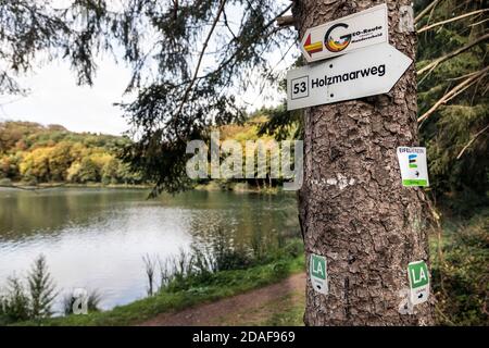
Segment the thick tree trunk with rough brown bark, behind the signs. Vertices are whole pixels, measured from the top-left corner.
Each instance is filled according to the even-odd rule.
[[[411,0],[386,1],[390,45],[415,58],[415,33],[398,28]],[[298,0],[299,37],[310,27],[384,1]],[[348,53],[347,53],[348,54]],[[308,270],[326,257],[329,294],[308,277],[306,325],[429,325],[430,303],[402,314],[408,264],[428,261],[425,196],[403,188],[398,146],[417,145],[414,64],[388,95],[309,108],[304,112],[304,184],[299,211]],[[308,271],[309,272],[309,271]]]

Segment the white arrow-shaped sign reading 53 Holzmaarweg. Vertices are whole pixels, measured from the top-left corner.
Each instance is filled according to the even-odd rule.
[[[388,92],[413,60],[388,44],[287,73],[287,109]]]

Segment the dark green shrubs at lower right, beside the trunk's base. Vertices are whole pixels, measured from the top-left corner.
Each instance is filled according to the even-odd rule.
[[[488,325],[489,213],[444,236],[443,259],[432,262],[438,321],[443,325]]]

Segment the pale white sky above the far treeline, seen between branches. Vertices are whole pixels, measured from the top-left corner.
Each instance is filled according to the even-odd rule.
[[[283,62],[287,64],[290,62]],[[17,80],[29,90],[25,97],[0,95],[0,122],[22,120],[41,124],[60,124],[72,132],[92,132],[121,135],[128,129],[122,110],[114,102],[130,101],[123,96],[130,78],[130,70],[112,59],[97,61],[97,76],[92,87],[77,86],[66,62],[54,61],[38,67]],[[205,65],[205,64],[203,64]],[[281,97],[265,100],[255,90],[239,96],[248,109],[279,103]]]

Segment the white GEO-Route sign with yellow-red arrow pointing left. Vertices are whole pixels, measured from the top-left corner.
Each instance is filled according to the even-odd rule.
[[[308,29],[301,50],[308,62],[315,62],[388,42],[388,33],[387,5],[384,3]]]

